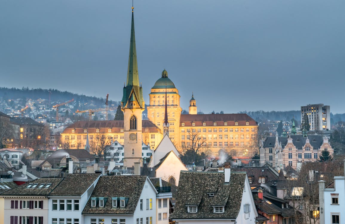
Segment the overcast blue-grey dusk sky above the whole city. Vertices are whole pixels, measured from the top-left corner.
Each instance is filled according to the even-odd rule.
[[[0,1],[0,86],[121,100],[130,0]],[[163,69],[188,110],[345,113],[345,1],[134,0],[144,100]]]

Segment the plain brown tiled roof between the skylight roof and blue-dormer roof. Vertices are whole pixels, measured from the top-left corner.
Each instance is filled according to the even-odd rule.
[[[81,196],[100,174],[69,174],[49,194],[50,196]]]

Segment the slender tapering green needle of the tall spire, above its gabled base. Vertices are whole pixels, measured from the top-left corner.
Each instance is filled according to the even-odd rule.
[[[127,86],[139,86],[137,49],[135,47],[134,13],[133,12],[132,12],[132,26],[130,30]]]

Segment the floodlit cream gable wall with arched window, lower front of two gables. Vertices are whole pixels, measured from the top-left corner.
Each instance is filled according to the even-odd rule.
[[[156,155],[155,155],[156,156]],[[158,169],[156,169],[156,177],[161,177],[162,180],[168,181],[169,177],[173,176],[176,180],[176,186],[180,179],[180,171],[188,171],[185,165],[174,153],[170,153]]]

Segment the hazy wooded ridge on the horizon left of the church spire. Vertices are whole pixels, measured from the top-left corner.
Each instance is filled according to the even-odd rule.
[[[59,91],[57,89],[29,89],[28,87],[23,87],[21,89],[18,88],[6,88],[6,87],[0,87],[0,98],[3,100],[8,99],[49,99],[49,92],[50,94],[50,102],[56,103],[56,102],[65,102],[71,99],[74,99],[75,102],[83,102],[88,104],[93,104],[97,108],[103,108],[105,107],[105,98],[99,98],[99,97],[91,97],[91,96],[85,96],[80,94],[75,94],[68,91]],[[104,94],[106,96],[106,92]],[[108,101],[109,107],[110,105],[114,105],[117,107],[119,105],[119,101]],[[91,108],[89,108],[91,109]]]

